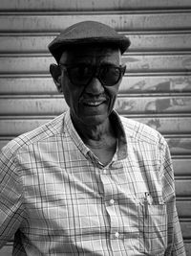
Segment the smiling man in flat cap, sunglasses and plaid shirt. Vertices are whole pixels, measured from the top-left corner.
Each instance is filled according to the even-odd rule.
[[[129,45],[93,21],[49,45],[70,110],[2,150],[0,244],[15,234],[13,255],[185,255],[166,142],[113,109]]]

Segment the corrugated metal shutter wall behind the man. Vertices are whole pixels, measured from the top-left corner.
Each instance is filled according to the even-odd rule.
[[[102,21],[131,38],[117,110],[157,128],[176,174],[182,234],[191,255],[191,1],[1,0],[0,148],[61,113],[47,45],[77,21]],[[0,256],[11,255],[11,243]]]

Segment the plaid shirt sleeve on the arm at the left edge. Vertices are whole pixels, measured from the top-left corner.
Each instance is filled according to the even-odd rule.
[[[7,146],[0,152],[0,247],[11,240],[24,219],[22,183]]]

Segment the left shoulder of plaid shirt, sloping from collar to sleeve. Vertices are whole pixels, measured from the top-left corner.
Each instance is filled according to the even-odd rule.
[[[55,136],[62,130],[64,115],[65,113],[38,128],[34,128],[31,131],[15,137],[3,148],[3,151],[10,151],[11,154],[14,154],[32,144],[48,140],[50,137]]]

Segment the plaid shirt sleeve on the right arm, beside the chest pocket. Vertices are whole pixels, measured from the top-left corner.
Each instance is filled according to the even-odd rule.
[[[168,220],[168,246],[165,256],[186,256],[176,207],[175,179],[172,159],[167,143],[164,141],[161,159],[163,198],[166,202]]]

